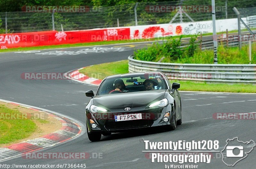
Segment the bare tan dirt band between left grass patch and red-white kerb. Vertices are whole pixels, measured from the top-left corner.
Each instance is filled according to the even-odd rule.
[[[32,109],[27,109],[25,107],[21,107],[18,105],[14,105],[11,103],[5,103],[5,102],[0,102],[0,104],[4,104],[6,107],[10,109],[17,109],[20,111],[20,113],[23,113],[27,116],[27,118],[32,118],[33,122],[36,123],[36,131],[33,132],[29,137],[23,138],[20,140],[16,140],[12,143],[8,144],[0,144],[0,147],[5,147],[14,143],[20,143],[23,141],[27,141],[30,139],[38,138],[41,136],[44,136],[46,134],[52,133],[56,130],[59,130],[62,127],[62,124],[60,123],[59,120],[56,118],[49,116],[43,111],[36,111]],[[21,119],[22,120],[22,119]]]

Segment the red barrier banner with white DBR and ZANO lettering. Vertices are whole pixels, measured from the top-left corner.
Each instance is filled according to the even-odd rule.
[[[0,34],[0,49],[130,39],[130,28]]]

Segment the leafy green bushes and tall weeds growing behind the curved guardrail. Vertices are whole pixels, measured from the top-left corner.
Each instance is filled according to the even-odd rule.
[[[198,35],[191,37],[188,47],[181,49],[180,39],[168,39],[163,44],[154,44],[148,49],[139,49],[134,52],[134,59],[146,61],[158,61],[162,57],[162,62],[170,63],[195,63],[195,64],[212,64],[213,50],[200,51],[196,41]],[[226,47],[223,44],[218,46],[218,63],[219,64],[249,64],[248,45],[239,47]],[[256,63],[256,43],[252,43],[252,64]]]

